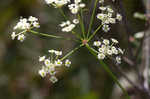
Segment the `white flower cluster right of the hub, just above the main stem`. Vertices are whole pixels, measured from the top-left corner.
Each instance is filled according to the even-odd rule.
[[[105,59],[106,57],[115,57],[115,60],[118,64],[121,63],[121,54],[123,50],[117,47],[118,41],[114,38],[111,40],[103,39],[102,41],[95,41],[94,46],[98,47],[98,59]]]

